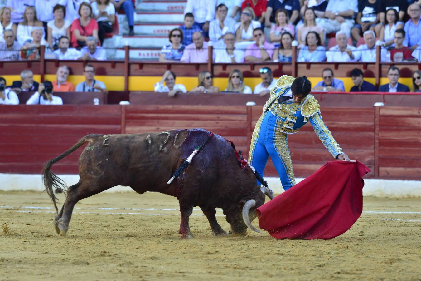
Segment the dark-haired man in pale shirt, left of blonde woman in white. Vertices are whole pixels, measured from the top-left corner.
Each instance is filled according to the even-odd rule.
[[[209,24],[209,39],[213,46],[217,43],[222,43],[222,38],[227,32],[234,32],[234,24],[236,21],[227,15],[228,8],[226,5],[220,4],[216,7],[217,19],[210,21]]]

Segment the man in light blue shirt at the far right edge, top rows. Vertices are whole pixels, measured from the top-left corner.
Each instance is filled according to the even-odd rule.
[[[411,17],[409,21],[405,23],[405,40],[403,45],[408,46],[412,50],[421,46],[421,8],[418,4],[411,4],[408,7],[408,15]]]

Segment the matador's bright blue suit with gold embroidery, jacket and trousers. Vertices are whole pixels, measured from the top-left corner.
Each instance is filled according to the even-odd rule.
[[[283,75],[271,89],[269,100],[263,107],[263,114],[254,128],[248,158],[250,165],[263,177],[270,155],[284,190],[295,185],[287,142],[288,135],[298,132],[306,122],[310,121],[317,136],[333,157],[336,158],[342,153],[338,143],[323,123],[320,106],[314,96],[309,94],[300,103],[283,98],[292,96],[291,85],[294,80],[292,76]],[[287,100],[279,103],[282,99]]]

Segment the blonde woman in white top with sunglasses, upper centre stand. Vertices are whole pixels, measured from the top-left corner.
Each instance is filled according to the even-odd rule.
[[[254,20],[255,15],[252,8],[247,7],[241,11],[240,22],[235,24],[235,42],[245,42],[244,45],[240,44],[245,48],[253,43],[253,30],[261,27],[260,22]]]

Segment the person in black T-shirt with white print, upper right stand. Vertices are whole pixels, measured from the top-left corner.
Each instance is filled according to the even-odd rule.
[[[360,0],[355,26],[351,29],[352,37],[358,42],[361,34],[367,30],[373,30],[379,22],[381,0]],[[376,37],[376,36],[375,36]]]

